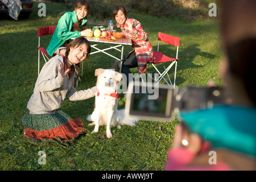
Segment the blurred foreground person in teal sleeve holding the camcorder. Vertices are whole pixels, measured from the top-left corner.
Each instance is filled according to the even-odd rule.
[[[222,77],[232,103],[181,112],[165,170],[256,169],[256,2],[220,2]]]

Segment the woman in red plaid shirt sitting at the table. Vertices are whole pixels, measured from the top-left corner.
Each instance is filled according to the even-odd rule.
[[[117,28],[121,28],[123,35],[133,42],[133,51],[123,57],[122,73],[126,75],[127,85],[129,84],[129,68],[139,68],[140,73],[146,71],[147,62],[154,60],[153,48],[138,20],[127,16],[123,6],[114,8],[113,17],[117,22]],[[120,61],[116,60],[112,65],[115,71],[120,69]]]

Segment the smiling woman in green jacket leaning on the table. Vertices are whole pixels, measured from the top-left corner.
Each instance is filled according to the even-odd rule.
[[[87,29],[86,16],[88,13],[88,2],[78,0],[75,5],[75,11],[67,12],[61,16],[46,50],[50,56],[53,56],[57,48],[67,47],[71,38],[90,36],[92,34],[90,29]]]

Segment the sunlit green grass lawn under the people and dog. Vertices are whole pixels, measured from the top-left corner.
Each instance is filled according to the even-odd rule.
[[[172,145],[175,122],[140,121],[135,127],[112,128],[113,138],[106,138],[106,127],[100,127],[96,134],[86,134],[75,139],[69,147],[52,144],[36,146],[23,136],[21,118],[28,112],[27,102],[33,93],[38,76],[37,28],[56,25],[61,14],[70,7],[63,4],[47,5],[47,16],[37,15],[38,3],[27,20],[0,20],[0,170],[163,170],[166,155]],[[148,33],[153,48],[157,48],[158,31],[181,39],[176,84],[206,86],[208,80],[217,85],[223,82],[218,74],[222,59],[218,27],[215,21],[159,19],[153,16],[129,14],[138,19]],[[108,24],[109,20],[90,20],[89,26]],[[101,22],[101,24],[98,24]],[[51,36],[42,38],[47,47]],[[163,44],[160,51],[170,55],[175,49]],[[125,47],[125,53],[131,47]],[[119,53],[111,52],[116,56]],[[103,54],[90,56],[84,65],[78,90],[91,88],[96,84],[94,70],[110,68],[113,59]],[[40,63],[43,66],[43,61]],[[133,72],[137,73],[134,68]],[[152,72],[152,68],[148,67]],[[170,76],[173,77],[173,72]],[[86,116],[92,113],[94,98],[71,102],[64,101],[61,108],[72,118],[80,118],[89,131]],[[125,107],[121,94],[118,108]],[[39,165],[39,151],[47,154],[46,164]]]

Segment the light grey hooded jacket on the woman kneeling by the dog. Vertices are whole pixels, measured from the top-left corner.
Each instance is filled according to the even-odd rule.
[[[97,86],[80,91],[74,88],[75,73],[71,77],[60,77],[60,61],[63,62],[63,57],[56,55],[44,64],[36,81],[34,93],[27,104],[30,114],[54,114],[60,109],[65,97],[71,101],[78,101],[95,96]]]

